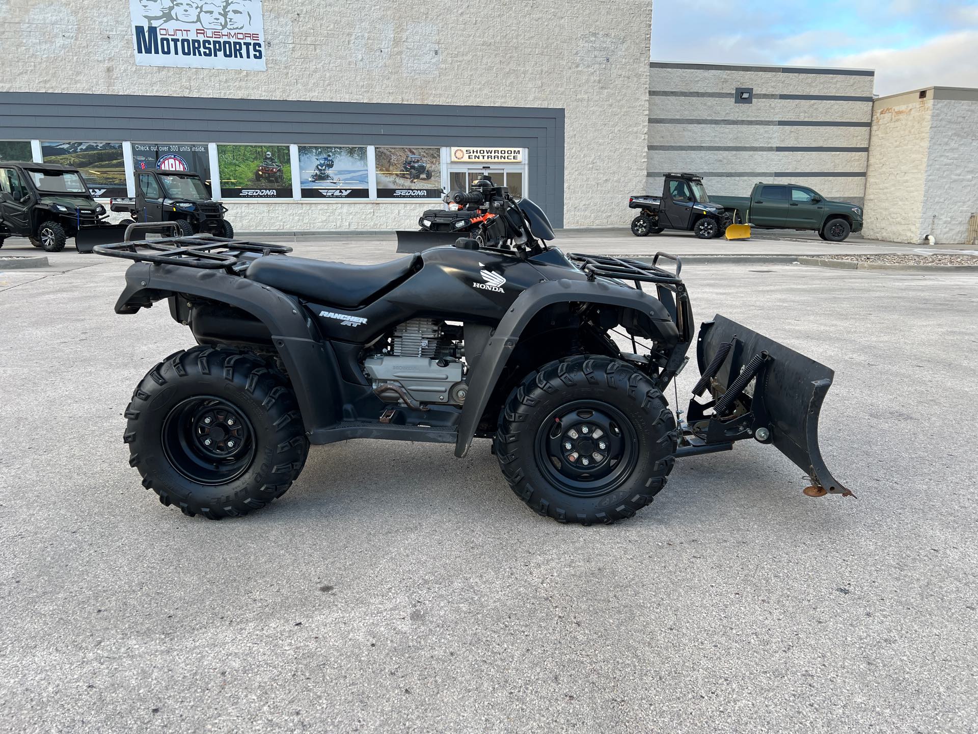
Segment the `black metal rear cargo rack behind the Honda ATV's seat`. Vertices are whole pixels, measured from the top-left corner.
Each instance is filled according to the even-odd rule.
[[[149,226],[148,226],[149,225]],[[242,258],[245,252],[260,255],[286,254],[292,252],[287,245],[270,245],[263,242],[234,240],[213,235],[193,235],[189,237],[163,237],[156,240],[132,240],[132,234],[138,230],[158,230],[167,225],[173,229],[173,222],[146,222],[130,224],[126,228],[125,241],[113,245],[99,245],[93,252],[109,257],[123,257],[136,262],[152,262],[156,265],[181,265],[196,267],[201,270],[227,270],[234,273],[236,269],[248,264],[247,258]],[[147,252],[149,251],[149,252]]]

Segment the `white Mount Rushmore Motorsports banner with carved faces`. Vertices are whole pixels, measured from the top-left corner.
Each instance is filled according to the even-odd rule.
[[[261,0],[129,0],[137,67],[265,70]]]

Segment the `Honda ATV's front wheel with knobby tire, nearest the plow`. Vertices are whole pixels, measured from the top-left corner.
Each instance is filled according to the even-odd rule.
[[[665,485],[676,420],[637,369],[565,357],[529,375],[499,417],[496,456],[512,490],[561,523],[632,517]]]

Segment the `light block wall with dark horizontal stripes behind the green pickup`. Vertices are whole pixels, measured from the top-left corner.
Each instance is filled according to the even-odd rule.
[[[646,191],[681,170],[721,195],[790,181],[862,205],[872,84],[865,69],[652,62]],[[739,87],[750,104],[734,102]]]

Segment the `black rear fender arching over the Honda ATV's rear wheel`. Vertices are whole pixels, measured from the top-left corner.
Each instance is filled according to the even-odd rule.
[[[240,308],[261,321],[272,335],[289,373],[307,435],[329,428],[339,417],[333,399],[339,393],[339,370],[332,350],[306,323],[302,308],[280,291],[217,270],[138,262],[125,274],[126,286],[116,313],[136,313],[154,301],[179,294]]]

